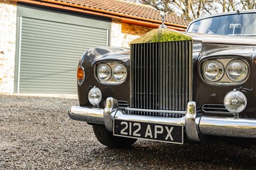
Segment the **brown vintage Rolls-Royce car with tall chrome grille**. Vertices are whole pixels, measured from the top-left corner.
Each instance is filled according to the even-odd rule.
[[[161,25],[131,49],[86,51],[77,66],[79,106],[100,143],[256,139],[256,10],[197,19],[186,32]]]

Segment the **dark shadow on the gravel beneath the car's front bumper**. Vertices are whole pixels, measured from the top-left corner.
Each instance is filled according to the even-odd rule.
[[[222,142],[177,145],[139,141],[129,149],[99,151],[105,156],[106,153],[111,155],[110,163],[123,162],[134,169],[255,169],[256,166],[255,145],[243,149]]]

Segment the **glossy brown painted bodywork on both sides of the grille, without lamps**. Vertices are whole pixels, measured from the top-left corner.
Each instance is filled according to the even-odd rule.
[[[247,45],[244,44],[244,38],[230,37],[230,42],[223,42],[223,36],[216,35],[211,37],[201,36],[198,34],[188,33],[194,40],[193,47],[193,100],[196,101],[198,109],[202,109],[204,104],[223,104],[225,95],[233,89],[241,89],[248,98],[248,105],[241,116],[246,118],[256,118],[256,107],[254,105],[256,99],[255,93],[255,58],[256,58],[256,40],[246,38]],[[205,39],[204,39],[205,38]],[[227,39],[227,36],[226,36]],[[235,43],[236,42],[236,43]],[[243,43],[239,43],[243,42]],[[249,45],[248,45],[249,44]],[[82,86],[77,85],[77,93],[79,104],[81,106],[92,106],[88,102],[88,91],[96,86],[102,91],[102,101],[99,107],[104,107],[104,101],[108,97],[116,98],[116,100],[130,101],[130,51],[127,48],[117,47],[99,47],[90,49],[85,52],[79,61],[79,66],[83,66],[85,72],[85,80]],[[209,84],[202,79],[200,73],[200,63],[208,58],[242,58],[248,61],[250,73],[248,79],[243,84],[233,85],[216,85]],[[127,79],[122,84],[102,84],[95,77],[95,64],[106,61],[117,61],[127,66]],[[216,112],[204,112],[202,114],[214,114],[220,116]],[[225,114],[227,116],[227,114]],[[230,116],[232,114],[230,113]]]

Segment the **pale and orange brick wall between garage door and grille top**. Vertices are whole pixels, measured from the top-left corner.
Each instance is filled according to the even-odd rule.
[[[130,42],[135,40],[152,27],[136,26],[133,24],[122,23],[121,20],[113,19],[111,24],[111,46],[112,47],[130,47]]]

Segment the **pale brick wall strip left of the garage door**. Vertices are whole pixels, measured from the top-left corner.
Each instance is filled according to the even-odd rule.
[[[0,92],[13,93],[17,4],[0,0]]]

